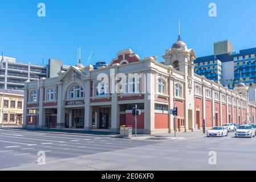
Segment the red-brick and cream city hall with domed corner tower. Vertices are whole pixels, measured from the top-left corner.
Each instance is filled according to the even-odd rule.
[[[135,127],[135,105],[141,110],[137,131],[142,134],[172,133],[168,109],[174,106],[178,131],[202,129],[203,121],[206,127],[255,122],[249,88],[240,83],[229,90],[195,74],[196,55],[180,36],[162,58],[163,63],[156,56],[141,59],[127,49],[105,67],[79,63],[58,77],[41,78],[39,85],[27,81],[23,127],[118,132],[120,125]]]

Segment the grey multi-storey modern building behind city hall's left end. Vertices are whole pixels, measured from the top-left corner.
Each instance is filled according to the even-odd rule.
[[[56,77],[58,72],[67,71],[70,67],[55,59],[50,59],[48,65],[6,56],[0,56],[0,60],[0,89],[23,90],[27,80]]]

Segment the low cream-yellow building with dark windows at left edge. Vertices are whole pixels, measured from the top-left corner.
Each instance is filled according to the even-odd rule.
[[[24,92],[0,89],[0,126],[22,125]]]

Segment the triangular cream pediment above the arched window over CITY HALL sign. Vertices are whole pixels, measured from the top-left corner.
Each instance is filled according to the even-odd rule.
[[[71,66],[65,73],[60,76],[59,81],[63,82],[70,82],[70,81],[75,81],[75,80],[80,80],[82,81],[83,78],[87,78],[88,76],[81,72],[79,69],[76,67]]]

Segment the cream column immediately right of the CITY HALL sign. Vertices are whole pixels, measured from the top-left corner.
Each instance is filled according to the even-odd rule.
[[[90,106],[90,93],[91,93],[91,84],[90,80],[86,80],[84,82],[84,102],[85,102],[85,110],[84,110],[84,130],[90,131],[92,129],[92,107]]]

